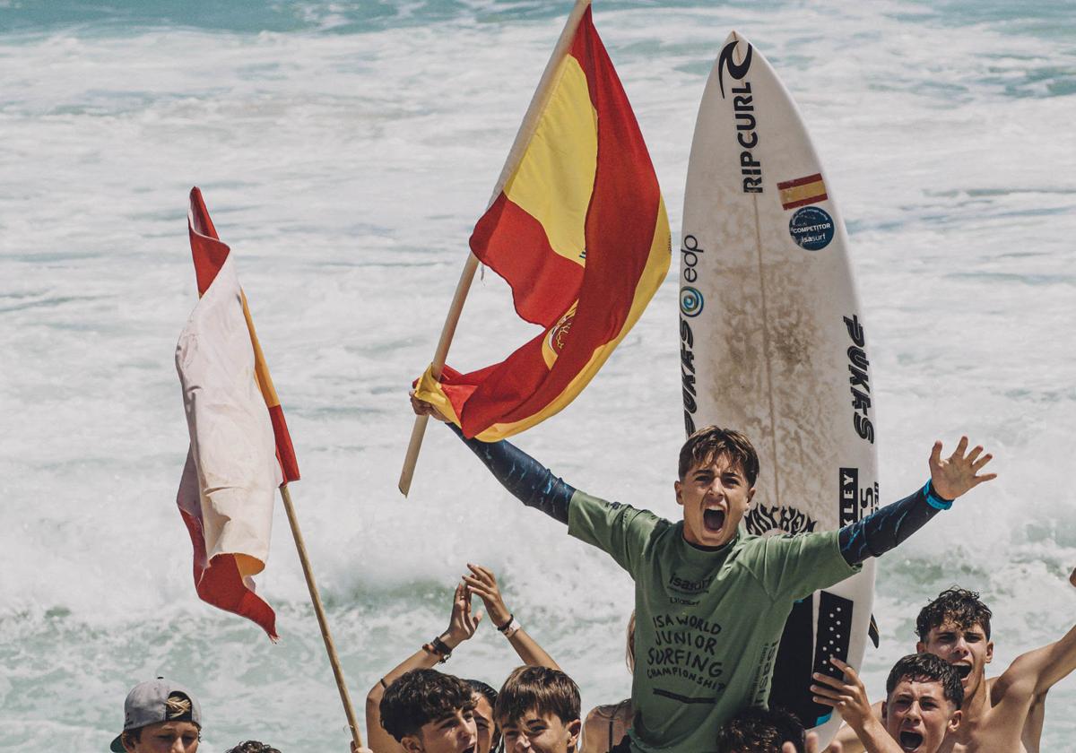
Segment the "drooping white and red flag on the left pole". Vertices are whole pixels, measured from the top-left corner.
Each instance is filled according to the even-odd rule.
[[[275,615],[252,578],[269,555],[277,487],[297,481],[299,467],[235,262],[198,188],[187,227],[199,300],[175,349],[190,435],[176,505],[198,596],[275,640]]]

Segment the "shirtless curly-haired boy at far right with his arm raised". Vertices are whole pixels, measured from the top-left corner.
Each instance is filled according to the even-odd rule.
[[[918,651],[935,654],[958,670],[964,688],[960,726],[942,753],[1038,753],[1046,693],[1076,669],[1076,627],[1040,649],[1018,656],[999,677],[987,678],[993,660],[991,612],[975,592],[949,588],[916,620]],[[874,707],[880,714],[880,704]],[[836,737],[845,753],[863,745],[848,728]]]

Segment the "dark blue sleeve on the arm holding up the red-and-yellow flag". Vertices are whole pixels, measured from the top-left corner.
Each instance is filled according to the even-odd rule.
[[[455,424],[448,424],[448,427],[464,440],[464,444],[479,456],[494,478],[516,499],[529,508],[541,510],[565,525],[568,524],[568,502],[576,493],[575,487],[553,475],[549,468],[514,444],[509,444],[505,440],[483,442],[478,439],[467,439]]]

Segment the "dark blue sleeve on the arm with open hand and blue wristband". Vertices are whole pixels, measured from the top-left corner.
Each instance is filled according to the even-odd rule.
[[[952,500],[937,496],[931,482],[904,499],[887,505],[840,529],[840,554],[849,565],[859,565],[867,557],[879,557],[922,528]]]

